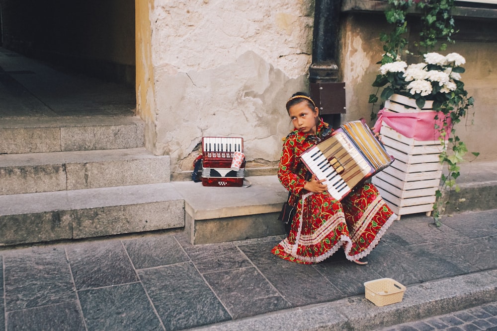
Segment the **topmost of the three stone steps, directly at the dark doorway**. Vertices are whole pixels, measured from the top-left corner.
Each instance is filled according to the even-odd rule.
[[[144,137],[131,116],[12,118],[0,122],[0,154],[136,148]]]

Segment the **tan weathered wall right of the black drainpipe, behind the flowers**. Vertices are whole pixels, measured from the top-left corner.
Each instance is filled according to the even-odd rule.
[[[383,13],[354,13],[343,19],[339,64],[346,84],[347,113],[342,116],[342,122],[360,117],[368,121],[370,119],[372,105],[368,103],[368,98],[376,92],[376,87],[371,86],[371,83],[379,73],[376,63],[383,54],[379,35],[390,29],[384,21]],[[456,18],[456,27],[457,23]],[[471,31],[472,26],[477,25],[461,25],[460,34],[475,39],[478,34]],[[456,126],[457,135],[470,151],[481,153],[479,161],[496,160],[497,135],[494,132],[497,124],[497,73],[492,64],[497,43],[495,37],[490,37],[490,40],[478,38],[482,41],[456,40],[455,44],[440,53],[457,52],[466,58],[466,72],[462,74],[462,80],[469,94],[475,98],[475,106],[470,110],[474,117],[470,115],[467,117],[468,123],[461,122]],[[379,106],[375,112],[378,110]],[[468,154],[467,159],[472,159],[472,156]]]

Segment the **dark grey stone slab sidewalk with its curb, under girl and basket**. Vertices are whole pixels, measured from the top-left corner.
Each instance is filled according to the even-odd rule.
[[[406,216],[363,266],[340,251],[318,265],[283,261],[270,253],[281,236],[191,245],[182,230],[4,248],[0,330],[374,330],[412,322],[495,301],[496,222],[497,209],[455,215],[441,228]],[[441,240],[456,232],[460,243]],[[407,286],[402,302],[376,307],[364,298],[363,282],[382,277]]]

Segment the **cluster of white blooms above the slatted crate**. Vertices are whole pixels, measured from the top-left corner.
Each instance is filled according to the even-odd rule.
[[[466,63],[464,57],[457,53],[450,53],[443,56],[438,53],[427,53],[424,55],[426,63],[407,65],[404,61],[387,63],[380,67],[382,75],[388,72],[404,72],[403,77],[406,82],[410,82],[406,88],[412,95],[418,93],[421,96],[430,95],[433,91],[432,82],[437,82],[441,93],[449,93],[457,88],[454,80],[461,80],[461,75],[452,72],[455,66]],[[444,69],[428,70],[428,65],[442,66]]]

